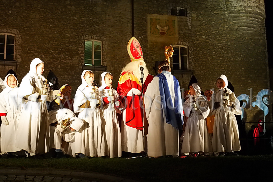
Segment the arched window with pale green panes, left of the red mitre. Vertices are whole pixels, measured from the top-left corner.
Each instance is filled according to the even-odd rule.
[[[99,40],[85,40],[84,43],[84,65],[102,65],[102,42]]]

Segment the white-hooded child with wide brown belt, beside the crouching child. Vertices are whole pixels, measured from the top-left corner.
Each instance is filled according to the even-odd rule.
[[[100,157],[105,155],[105,142],[99,108],[103,101],[98,87],[93,86],[94,73],[84,70],[81,75],[82,84],[78,87],[74,99],[74,112],[84,121],[81,131],[75,133],[75,153],[79,157]],[[93,87],[97,90],[97,98],[91,98]]]

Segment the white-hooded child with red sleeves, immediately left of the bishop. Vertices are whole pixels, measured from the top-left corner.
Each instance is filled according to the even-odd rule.
[[[99,87],[103,98],[102,124],[105,139],[105,155],[110,158],[121,157],[121,136],[117,113],[121,113],[122,103],[118,101],[118,93],[114,90],[114,96],[109,96],[108,89],[113,80],[111,73],[101,74],[102,86]],[[113,102],[113,103],[111,103]]]

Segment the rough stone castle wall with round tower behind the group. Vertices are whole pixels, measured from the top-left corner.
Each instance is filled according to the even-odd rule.
[[[51,69],[62,84],[81,84],[84,40],[102,41],[103,66],[114,75],[117,86],[121,68],[129,62],[127,43],[132,37],[132,1],[0,1],[0,33],[16,35],[15,60],[19,80],[30,61],[45,62],[44,76]],[[188,46],[189,69],[175,74],[180,87],[187,87],[193,73],[202,90],[214,88],[215,79],[225,74],[236,96],[253,96],[269,88],[265,39],[265,8],[262,0],[134,0],[134,36],[140,42],[151,74],[155,61],[164,59],[164,46]],[[170,15],[171,7],[187,8],[178,16],[178,41],[148,41],[147,14]],[[1,78],[11,66],[4,69]],[[16,67],[14,67],[16,69]],[[102,71],[95,71],[98,80]],[[254,99],[255,100],[255,99]],[[257,107],[256,107],[257,108]],[[260,110],[247,110],[247,121],[262,118]],[[268,115],[268,119],[271,119]],[[252,124],[249,124],[249,126]],[[248,126],[248,127],[249,127]]]

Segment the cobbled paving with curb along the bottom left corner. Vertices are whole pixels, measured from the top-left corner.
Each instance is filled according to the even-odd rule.
[[[61,166],[60,166],[61,168]],[[5,181],[93,181],[93,182],[137,182],[127,177],[101,174],[98,172],[86,172],[80,170],[60,170],[50,168],[5,168],[0,169],[0,182]]]

